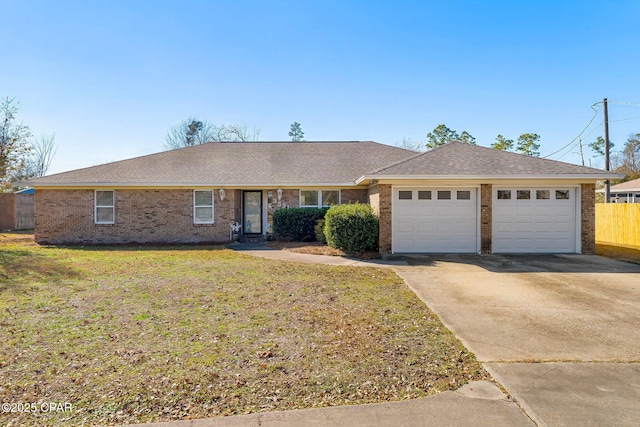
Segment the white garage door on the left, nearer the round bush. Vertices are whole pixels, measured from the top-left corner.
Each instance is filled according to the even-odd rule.
[[[477,188],[394,188],[393,252],[478,252]]]

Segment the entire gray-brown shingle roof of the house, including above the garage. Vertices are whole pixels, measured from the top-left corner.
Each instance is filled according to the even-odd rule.
[[[416,154],[372,141],[224,142],[164,151],[26,181],[29,186],[353,185],[381,177],[616,177],[577,166],[452,142]]]

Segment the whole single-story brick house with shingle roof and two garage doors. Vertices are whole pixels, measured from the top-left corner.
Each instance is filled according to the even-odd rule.
[[[595,182],[619,175],[463,143],[210,143],[60,173],[36,241],[195,243],[267,232],[282,207],[369,203],[382,253],[593,253]]]

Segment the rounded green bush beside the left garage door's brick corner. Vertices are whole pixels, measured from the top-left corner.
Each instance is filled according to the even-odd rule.
[[[325,216],[324,234],[329,246],[349,254],[375,249],[378,218],[369,205],[331,206]]]

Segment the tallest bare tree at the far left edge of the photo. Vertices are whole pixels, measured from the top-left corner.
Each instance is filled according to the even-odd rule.
[[[19,105],[15,98],[9,97],[0,103],[0,190],[9,187],[31,149],[29,126],[16,123]]]

